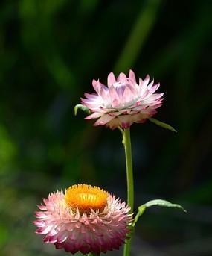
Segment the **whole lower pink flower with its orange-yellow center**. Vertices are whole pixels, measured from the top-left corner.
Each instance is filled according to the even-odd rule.
[[[37,234],[66,252],[100,253],[119,249],[129,234],[130,207],[99,187],[77,184],[51,193],[36,212]]]

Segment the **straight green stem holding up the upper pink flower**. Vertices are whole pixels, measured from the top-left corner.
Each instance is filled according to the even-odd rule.
[[[130,130],[126,128],[123,130],[123,146],[126,159],[126,179],[127,179],[127,204],[131,207],[129,213],[133,212],[134,207],[134,184],[133,184],[133,170],[132,170],[132,150],[130,140]],[[131,246],[131,238],[126,240],[123,248],[123,256],[129,256]]]

